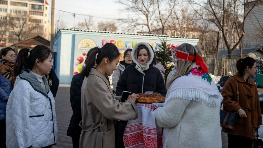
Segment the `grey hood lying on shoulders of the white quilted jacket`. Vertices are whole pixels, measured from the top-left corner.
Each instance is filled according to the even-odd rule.
[[[49,84],[45,76],[43,76],[42,80],[45,84],[46,90],[44,90],[44,88],[41,86],[41,83],[39,83],[37,77],[34,74],[31,74],[30,72],[26,72],[25,70],[21,71],[21,73],[17,76],[15,82],[17,83],[20,80],[28,81],[35,91],[45,95],[46,97],[49,97],[48,96]]]

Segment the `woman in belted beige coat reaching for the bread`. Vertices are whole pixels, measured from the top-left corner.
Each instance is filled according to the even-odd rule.
[[[129,95],[126,102],[119,102],[120,97],[115,99],[104,76],[110,76],[117,69],[119,56],[117,47],[112,43],[106,43],[96,53],[91,53],[87,57],[90,62],[82,72],[86,77],[81,88],[80,148],[114,148],[113,120],[127,121],[138,118],[138,111],[134,105],[137,95]]]

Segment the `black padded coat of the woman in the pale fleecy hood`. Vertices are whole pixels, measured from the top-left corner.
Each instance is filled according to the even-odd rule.
[[[122,95],[122,91],[130,91],[131,93],[144,93],[146,91],[158,92],[165,96],[167,93],[164,80],[160,70],[150,65],[149,69],[140,73],[136,68],[136,64],[129,65],[121,74],[116,87],[116,96]],[[142,91],[143,87],[143,91]]]

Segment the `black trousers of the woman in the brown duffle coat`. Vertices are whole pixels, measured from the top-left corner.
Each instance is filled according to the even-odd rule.
[[[251,148],[254,139],[239,135],[227,134],[228,148]]]

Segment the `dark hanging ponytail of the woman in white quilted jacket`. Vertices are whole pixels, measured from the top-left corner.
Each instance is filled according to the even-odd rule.
[[[26,61],[29,53],[28,48],[22,48],[17,55],[15,65],[14,65],[14,74],[15,77],[20,74],[20,72],[26,67]]]

